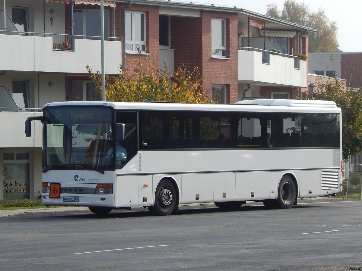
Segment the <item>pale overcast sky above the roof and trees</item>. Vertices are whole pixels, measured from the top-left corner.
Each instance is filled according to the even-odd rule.
[[[260,14],[266,13],[266,5],[276,4],[282,10],[284,0],[190,0],[193,3],[238,7]],[[337,40],[343,52],[362,52],[362,1],[361,0],[295,0],[307,5],[311,12],[324,10],[330,22],[338,27]]]

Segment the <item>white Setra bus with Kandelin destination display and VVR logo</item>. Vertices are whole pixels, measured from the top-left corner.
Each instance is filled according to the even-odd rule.
[[[246,201],[290,208],[342,190],[341,109],[330,101],[58,102],[43,116],[42,203],[96,214]]]

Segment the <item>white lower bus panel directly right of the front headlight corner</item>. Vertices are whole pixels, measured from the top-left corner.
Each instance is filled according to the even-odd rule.
[[[116,208],[139,206],[139,176],[117,176]],[[143,205],[141,203],[140,205]]]

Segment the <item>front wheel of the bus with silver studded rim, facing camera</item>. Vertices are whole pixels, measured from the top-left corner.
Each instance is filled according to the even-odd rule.
[[[156,188],[155,205],[148,207],[155,215],[169,215],[176,206],[176,189],[172,182],[161,180]]]

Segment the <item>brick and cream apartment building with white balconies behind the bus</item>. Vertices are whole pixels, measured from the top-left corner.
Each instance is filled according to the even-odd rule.
[[[42,128],[34,123],[26,138],[27,117],[48,102],[99,99],[86,66],[101,70],[100,18],[100,0],[0,4],[0,199],[40,195]],[[308,74],[308,59],[294,54],[308,55],[314,31],[237,7],[104,1],[105,73],[132,70],[137,57],[169,70],[197,66],[219,103],[293,99]]]

